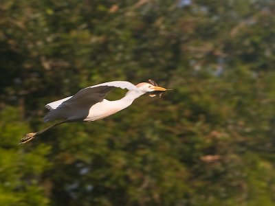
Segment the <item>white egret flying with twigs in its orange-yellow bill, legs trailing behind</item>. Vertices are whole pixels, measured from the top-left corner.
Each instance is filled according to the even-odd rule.
[[[129,91],[120,100],[107,100],[107,93],[114,88],[128,89]],[[62,100],[50,102],[45,105],[49,112],[43,118],[44,122],[59,120],[51,126],[44,128],[36,133],[28,133],[23,136],[19,144],[34,139],[50,128],[59,124],[69,122],[92,122],[98,119],[104,119],[118,111],[130,106],[133,101],[145,93],[151,97],[162,97],[163,93],[170,89],[158,87],[154,80],[141,82],[137,85],[127,81],[104,82],[91,87],[86,87],[78,91],[75,95]]]

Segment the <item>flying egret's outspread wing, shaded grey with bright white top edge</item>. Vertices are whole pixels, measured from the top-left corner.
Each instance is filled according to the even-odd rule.
[[[85,119],[89,115],[89,109],[91,106],[98,102],[102,102],[107,93],[114,87],[121,89],[135,90],[135,85],[125,81],[114,81],[98,84],[91,87],[81,89],[72,97],[59,100],[60,103],[55,109],[58,103],[52,102],[46,106],[50,106],[52,110],[44,117],[44,121],[52,121],[54,119],[68,119],[69,121],[77,121]]]

